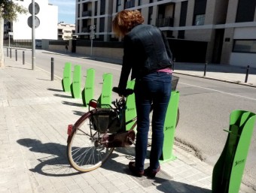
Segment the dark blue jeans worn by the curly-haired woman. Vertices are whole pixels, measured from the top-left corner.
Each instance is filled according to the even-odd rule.
[[[163,125],[172,92],[172,74],[154,72],[136,79],[134,88],[137,111],[136,169],[144,170],[147,156],[150,111],[152,116],[152,145],[150,167],[156,170],[163,150]],[[152,104],[153,103],[153,104]]]

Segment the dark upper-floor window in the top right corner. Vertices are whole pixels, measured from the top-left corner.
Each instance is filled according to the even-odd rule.
[[[236,23],[253,22],[255,7],[255,0],[239,0],[236,12]]]

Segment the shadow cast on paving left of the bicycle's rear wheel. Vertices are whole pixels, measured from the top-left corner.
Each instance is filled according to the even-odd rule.
[[[40,173],[44,176],[72,176],[80,174],[74,170],[66,156],[66,146],[58,143],[41,143],[35,139],[20,139],[17,140],[22,146],[26,146],[32,152],[44,154],[44,157],[38,158],[39,164],[34,168],[29,169],[32,172]]]

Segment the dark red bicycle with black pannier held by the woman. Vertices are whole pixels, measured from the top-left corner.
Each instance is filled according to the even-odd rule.
[[[172,76],[172,90],[176,89],[178,77]],[[118,94],[117,87],[112,89]],[[126,98],[133,94],[133,89],[109,104],[99,104],[96,100],[89,102],[89,111],[68,126],[67,155],[69,164],[80,172],[88,172],[102,166],[116,147],[135,144],[136,117],[126,121]],[[93,110],[90,108],[93,107]],[[177,112],[176,125],[179,119]],[[130,129],[126,125],[133,122]]]

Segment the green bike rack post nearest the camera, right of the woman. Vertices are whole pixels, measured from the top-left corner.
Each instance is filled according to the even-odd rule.
[[[239,192],[255,117],[245,110],[234,110],[230,114],[227,141],[212,172],[212,193]]]

